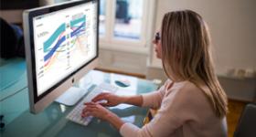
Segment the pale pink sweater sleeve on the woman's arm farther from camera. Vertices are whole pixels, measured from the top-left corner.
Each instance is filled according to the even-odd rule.
[[[161,102],[165,95],[165,87],[169,80],[165,81],[165,84],[159,89],[151,93],[143,94],[143,104],[142,107],[150,107],[153,109],[158,109],[161,106]]]

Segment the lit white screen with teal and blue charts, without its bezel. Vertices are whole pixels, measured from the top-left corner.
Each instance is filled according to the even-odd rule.
[[[37,96],[96,57],[95,3],[33,17]]]

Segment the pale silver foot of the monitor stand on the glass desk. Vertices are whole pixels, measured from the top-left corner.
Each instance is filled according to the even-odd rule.
[[[75,105],[86,93],[88,90],[80,89],[77,87],[71,87],[69,90],[66,90],[59,98],[55,101],[66,106]]]

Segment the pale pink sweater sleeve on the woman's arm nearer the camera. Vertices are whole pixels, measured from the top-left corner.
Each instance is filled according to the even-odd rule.
[[[187,92],[179,93],[173,90],[171,94],[165,96],[162,101],[161,108],[157,111],[154,119],[143,128],[138,128],[131,123],[125,123],[120,129],[123,137],[155,137],[169,136],[176,132],[176,129],[181,127],[191,116],[195,114],[191,109],[194,105],[189,99]],[[191,108],[192,107],[192,108]]]

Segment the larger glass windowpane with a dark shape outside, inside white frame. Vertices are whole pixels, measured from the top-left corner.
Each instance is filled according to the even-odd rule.
[[[144,0],[117,0],[115,5],[114,38],[141,38]]]

